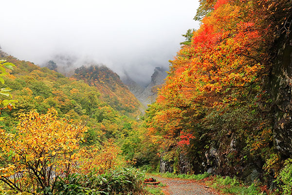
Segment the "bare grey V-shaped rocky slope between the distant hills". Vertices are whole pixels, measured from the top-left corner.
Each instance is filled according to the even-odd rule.
[[[154,73],[151,76],[151,82],[146,86],[142,87],[133,81],[127,74],[122,81],[128,86],[130,92],[145,106],[153,103],[157,98],[157,88],[161,87],[164,83],[164,79],[167,76],[166,70],[161,67],[156,67]]]

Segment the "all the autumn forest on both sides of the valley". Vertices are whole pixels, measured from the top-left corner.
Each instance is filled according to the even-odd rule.
[[[291,195],[292,1],[194,17],[147,108],[105,65],[65,77],[0,51],[0,195],[162,195],[145,173]]]

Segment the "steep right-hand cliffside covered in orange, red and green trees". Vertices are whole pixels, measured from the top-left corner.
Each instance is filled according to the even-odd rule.
[[[271,186],[276,179],[289,189],[292,2],[200,2],[201,27],[184,35],[146,112],[145,136],[157,147],[160,171]]]

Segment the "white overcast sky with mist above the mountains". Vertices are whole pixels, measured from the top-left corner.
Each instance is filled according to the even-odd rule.
[[[79,59],[74,66],[93,60],[145,83],[199,27],[198,1],[1,0],[0,46],[40,65],[55,55]]]

